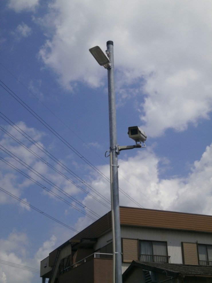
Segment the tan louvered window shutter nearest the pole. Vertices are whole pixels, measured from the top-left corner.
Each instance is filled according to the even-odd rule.
[[[138,240],[122,239],[123,262],[138,260]]]

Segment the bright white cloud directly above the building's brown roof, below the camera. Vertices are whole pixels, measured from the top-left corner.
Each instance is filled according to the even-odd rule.
[[[160,159],[150,149],[127,160],[120,159],[119,188],[144,208],[212,214],[212,144],[206,148],[201,159],[195,161],[187,177],[160,179],[159,162]],[[109,176],[109,165],[99,169]],[[110,199],[110,185],[105,179],[100,176],[93,178],[92,187]],[[120,205],[136,206],[121,192],[119,200]],[[84,204],[95,207],[97,212],[107,211],[90,196],[84,199]],[[80,223],[78,225],[80,227]]]

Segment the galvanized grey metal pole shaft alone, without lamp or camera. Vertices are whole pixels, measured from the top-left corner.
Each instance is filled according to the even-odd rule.
[[[110,149],[112,152],[112,176],[113,176],[113,211],[115,226],[115,282],[122,283],[121,270],[121,229],[119,211],[119,181],[118,181],[118,157],[115,152],[117,145],[116,129],[116,108],[115,108],[115,79],[113,60],[113,41],[107,41],[107,54],[111,67],[107,69],[108,74],[108,98],[109,98],[109,128],[110,128]],[[114,251],[113,251],[114,252]]]

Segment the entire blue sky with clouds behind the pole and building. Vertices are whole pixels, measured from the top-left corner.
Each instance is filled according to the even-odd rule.
[[[209,0],[1,1],[1,283],[41,282],[22,268],[110,210],[107,70],[89,52],[108,40],[118,143],[134,143],[129,126],[148,136],[119,155],[120,205],[212,214],[211,11]]]

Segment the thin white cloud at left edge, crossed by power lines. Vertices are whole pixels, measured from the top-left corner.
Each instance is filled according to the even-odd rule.
[[[37,161],[36,157],[32,155],[28,150],[26,150],[24,147],[22,147],[20,144],[18,144],[15,141],[15,138],[17,138],[20,142],[23,142],[28,148],[33,150],[38,155],[40,154],[42,156],[42,153],[39,151],[38,147],[33,145],[29,142],[26,138],[24,138],[23,135],[20,134],[20,129],[22,129],[26,134],[31,136],[34,140],[38,141],[42,138],[43,134],[42,132],[39,132],[38,130],[35,130],[34,128],[28,128],[25,123],[18,122],[15,126],[15,128],[18,130],[15,130],[15,128],[11,126],[3,127],[9,134],[13,136],[14,139],[10,138],[9,135],[3,134],[0,136],[1,141],[1,149],[7,153],[3,153],[3,158],[5,161],[9,162],[11,165],[14,165],[15,167],[26,170],[25,167],[23,167],[18,161],[13,159],[11,157],[12,154],[14,154],[17,158],[19,158],[21,161],[25,162],[26,164],[32,166],[34,165],[35,168],[38,168],[39,162]],[[40,143],[40,145],[42,145]],[[17,159],[16,158],[16,159]],[[21,174],[18,174],[15,169],[11,168],[9,165],[6,165],[5,163],[1,162],[1,186],[4,190],[8,191],[9,193],[15,195],[16,197],[20,198],[21,194],[27,188],[29,185],[32,184],[32,181],[29,179],[24,179]],[[28,175],[31,171],[25,171]],[[17,202],[12,198],[11,196],[5,194],[4,192],[0,192],[1,194],[1,201],[0,203],[15,203]],[[20,204],[21,206],[23,204]],[[26,209],[29,209],[26,207]]]

